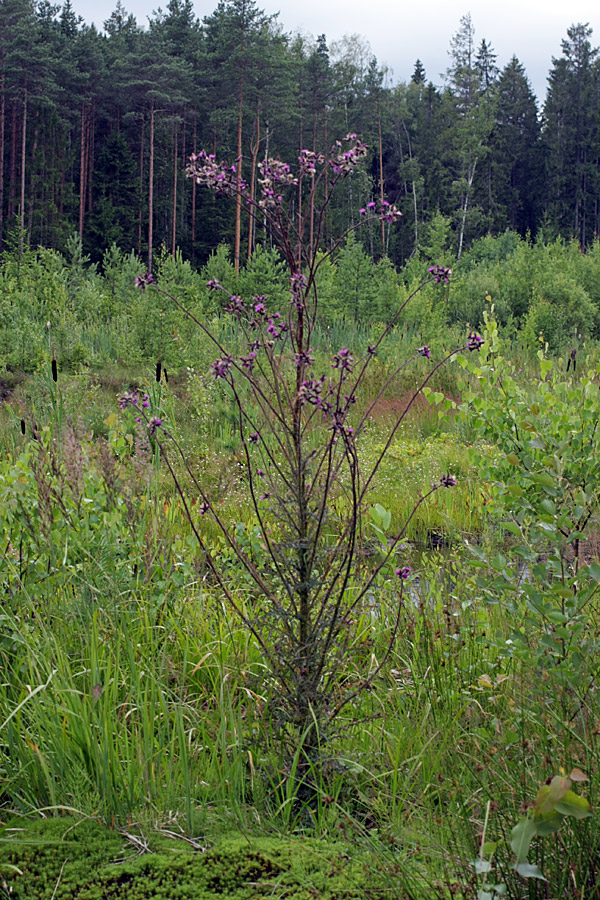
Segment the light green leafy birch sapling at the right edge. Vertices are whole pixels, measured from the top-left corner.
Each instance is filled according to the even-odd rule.
[[[493,320],[485,348],[467,364],[478,389],[466,395],[464,414],[496,448],[479,465],[492,484],[499,526],[516,545],[510,560],[475,548],[492,570],[479,584],[490,602],[515,616],[506,652],[532,657],[549,678],[582,696],[586,660],[597,652],[592,610],[600,569],[585,554],[600,498],[596,373],[577,377],[540,351],[539,376],[522,384],[501,355]]]

